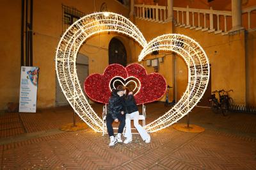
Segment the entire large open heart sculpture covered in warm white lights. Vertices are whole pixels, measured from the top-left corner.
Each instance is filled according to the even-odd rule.
[[[76,73],[76,56],[83,42],[97,33],[114,31],[133,38],[141,45],[138,61],[154,50],[168,50],[179,54],[188,66],[186,91],[170,111],[144,128],[156,132],[188,114],[204,95],[209,82],[209,59],[195,40],[185,35],[157,36],[147,43],[140,30],[129,19],[116,13],[92,13],[77,20],[61,37],[56,50],[56,73],[61,89],[76,114],[96,132],[102,132],[103,120],[93,111],[83,94]]]

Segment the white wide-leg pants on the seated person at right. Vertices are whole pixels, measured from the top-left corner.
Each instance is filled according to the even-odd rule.
[[[139,114],[140,113],[138,111],[132,112],[131,114],[125,114],[125,137],[132,138],[131,120],[133,119],[134,127],[138,130],[143,141],[145,141],[148,139],[148,137],[150,137],[150,135],[148,135],[147,131],[139,124]]]

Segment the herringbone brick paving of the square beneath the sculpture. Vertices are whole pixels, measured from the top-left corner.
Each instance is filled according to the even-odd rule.
[[[147,105],[147,123],[167,110],[161,103]],[[151,134],[150,144],[134,135],[131,144],[109,148],[108,136],[90,128],[58,130],[72,122],[70,107],[1,114],[0,169],[256,169],[255,114],[223,117],[196,107],[190,118],[205,132],[168,127]]]

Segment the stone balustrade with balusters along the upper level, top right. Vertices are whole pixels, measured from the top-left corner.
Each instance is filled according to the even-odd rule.
[[[153,22],[169,22],[168,8],[159,5],[135,4],[134,12],[136,18],[150,20]],[[256,10],[256,6],[243,10],[243,15],[248,15],[248,21],[243,22],[243,27],[248,31],[255,31],[252,28],[251,13]],[[208,31],[209,33],[227,34],[232,29],[232,15],[230,11],[202,10],[195,8],[178,8],[173,7],[173,19],[175,26],[184,26],[189,29]],[[248,22],[248,23],[246,23]]]

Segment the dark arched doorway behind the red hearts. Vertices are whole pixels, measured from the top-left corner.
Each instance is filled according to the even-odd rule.
[[[126,66],[127,64],[127,54],[124,44],[117,38],[112,38],[108,46],[108,58],[109,65],[113,63]]]

